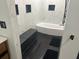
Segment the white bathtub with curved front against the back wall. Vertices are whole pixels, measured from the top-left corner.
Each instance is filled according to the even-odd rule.
[[[64,31],[64,26],[52,23],[38,23],[36,24],[36,29],[38,32],[47,35],[62,36]]]

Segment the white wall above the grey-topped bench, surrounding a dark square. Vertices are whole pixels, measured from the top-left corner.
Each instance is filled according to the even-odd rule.
[[[34,1],[33,0],[16,0],[15,3],[19,5],[20,15],[18,15],[17,18],[18,18],[20,33],[23,33],[29,28],[32,28],[36,22],[40,21],[40,18],[39,18],[40,7],[38,7],[40,0],[34,0]],[[25,10],[26,4],[31,4],[31,7],[32,7],[31,13],[26,13],[26,10]]]

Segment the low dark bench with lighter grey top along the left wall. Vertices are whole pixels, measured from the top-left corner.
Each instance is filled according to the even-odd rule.
[[[31,52],[31,50],[37,43],[36,37],[37,37],[37,31],[35,29],[29,29],[28,31],[20,35],[23,59],[26,58],[26,56]]]

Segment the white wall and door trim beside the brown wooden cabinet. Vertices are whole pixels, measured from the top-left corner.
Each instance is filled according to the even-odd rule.
[[[0,36],[8,39],[11,59],[21,59],[14,0],[0,0],[0,20],[5,21],[7,25],[7,29],[0,28]]]

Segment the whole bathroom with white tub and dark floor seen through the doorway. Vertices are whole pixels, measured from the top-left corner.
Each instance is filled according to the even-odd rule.
[[[58,59],[65,0],[15,0],[22,59]]]

